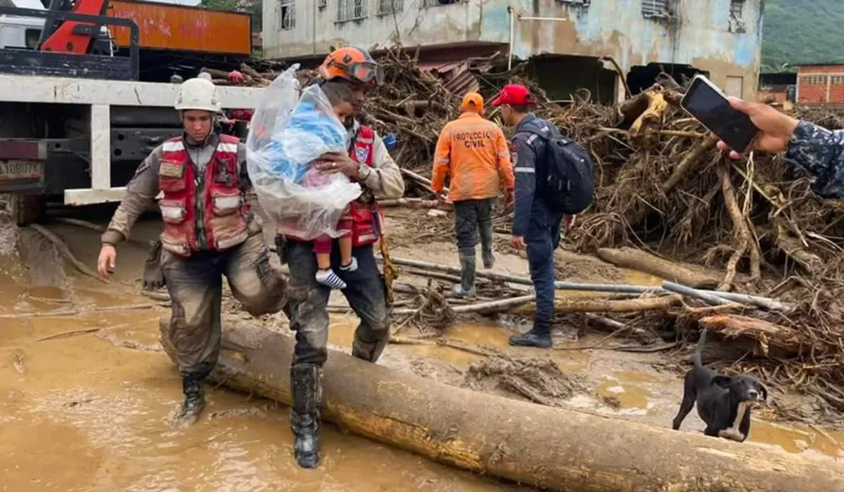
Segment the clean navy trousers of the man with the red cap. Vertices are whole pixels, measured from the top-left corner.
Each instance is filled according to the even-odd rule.
[[[530,278],[536,290],[536,314],[533,316],[533,331],[536,333],[547,334],[551,331],[556,291],[554,251],[560,246],[562,220],[563,214],[550,212],[538,198],[533,201],[525,245]]]

